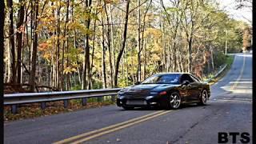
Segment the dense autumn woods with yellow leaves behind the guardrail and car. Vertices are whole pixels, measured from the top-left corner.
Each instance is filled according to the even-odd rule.
[[[214,0],[6,0],[4,82],[57,90],[122,87],[158,72],[204,78],[251,27]]]

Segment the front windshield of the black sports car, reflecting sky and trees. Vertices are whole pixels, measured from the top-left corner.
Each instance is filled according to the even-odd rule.
[[[146,78],[142,84],[179,84],[180,74],[156,74]]]

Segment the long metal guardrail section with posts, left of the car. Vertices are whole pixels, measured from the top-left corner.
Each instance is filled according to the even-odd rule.
[[[82,98],[82,105],[86,106],[86,98],[98,98],[104,96],[115,96],[121,88],[103,90],[74,90],[44,93],[19,93],[4,94],[4,105],[11,105],[13,114],[17,113],[18,104],[41,102],[41,108],[45,109],[46,102],[64,101],[64,107],[68,106],[68,100]],[[114,101],[114,97],[112,97]]]

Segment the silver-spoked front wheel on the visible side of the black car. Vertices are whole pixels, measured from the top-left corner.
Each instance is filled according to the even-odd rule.
[[[170,93],[167,100],[168,100],[167,106],[166,106],[167,110],[178,109],[182,104],[182,98],[177,91]]]

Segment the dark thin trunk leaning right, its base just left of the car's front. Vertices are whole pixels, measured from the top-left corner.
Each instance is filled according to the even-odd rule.
[[[128,17],[129,17],[129,5],[130,5],[130,0],[127,0],[126,4],[126,21],[125,21],[125,26],[124,26],[124,31],[122,35],[122,47],[121,50],[119,51],[115,70],[114,70],[114,87],[118,87],[118,69],[119,69],[119,64],[120,64],[120,59],[122,58],[122,53],[123,50],[125,49],[126,46],[126,34],[127,34],[127,26],[128,26]]]

